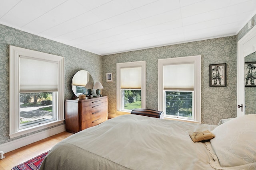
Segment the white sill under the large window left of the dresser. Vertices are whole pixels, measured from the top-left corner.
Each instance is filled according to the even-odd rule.
[[[41,125],[37,125],[37,126],[33,126],[33,127],[28,127],[28,128],[25,128],[25,129],[20,129],[17,132],[9,134],[9,136],[10,136],[10,139],[14,138],[14,137],[19,137],[19,136],[22,136],[22,135],[26,135],[28,133],[39,131],[41,129],[45,129],[45,128],[52,127],[52,126],[55,126],[55,125],[60,125],[60,124],[63,123],[63,121],[64,120],[51,121],[51,122],[44,123],[44,124],[41,124]]]

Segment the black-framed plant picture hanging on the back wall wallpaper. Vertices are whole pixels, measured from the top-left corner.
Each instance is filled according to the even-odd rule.
[[[210,64],[210,86],[226,86],[226,63]]]

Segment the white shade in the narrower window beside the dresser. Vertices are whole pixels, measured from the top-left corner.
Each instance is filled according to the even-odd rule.
[[[121,68],[121,88],[141,89],[141,67]]]

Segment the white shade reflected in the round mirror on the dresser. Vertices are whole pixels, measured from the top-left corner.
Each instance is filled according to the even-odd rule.
[[[85,70],[80,70],[76,72],[72,79],[73,86],[85,86],[89,81],[89,72]]]

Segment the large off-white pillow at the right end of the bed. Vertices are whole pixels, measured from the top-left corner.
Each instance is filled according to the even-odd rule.
[[[256,160],[256,114],[242,115],[217,126],[210,143],[222,167],[241,166]]]

